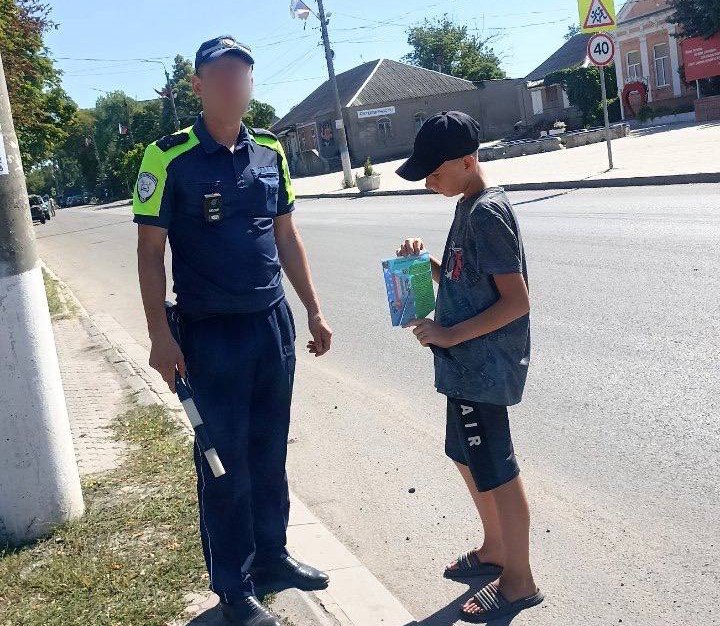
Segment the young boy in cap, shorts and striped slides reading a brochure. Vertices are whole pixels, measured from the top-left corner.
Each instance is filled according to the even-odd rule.
[[[530,361],[527,269],[517,220],[505,192],[489,184],[478,161],[480,128],[457,111],[422,126],[407,180],[447,197],[462,195],[442,262],[435,320],[408,324],[435,355],[435,386],[447,400],[445,453],[455,461],[484,530],[482,547],[447,566],[445,577],[493,577],[460,609],[487,622],[540,604],[530,570],[530,514],[513,452],[507,407],[520,402]],[[406,239],[398,256],[417,254]]]

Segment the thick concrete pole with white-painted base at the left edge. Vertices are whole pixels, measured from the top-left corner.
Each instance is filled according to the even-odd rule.
[[[0,545],[20,545],[84,505],[2,57],[0,329]]]

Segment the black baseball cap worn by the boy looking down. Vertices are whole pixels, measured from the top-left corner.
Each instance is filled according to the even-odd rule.
[[[415,137],[410,158],[397,173],[405,180],[422,180],[445,161],[460,159],[480,147],[480,124],[467,113],[443,111],[428,119]]]

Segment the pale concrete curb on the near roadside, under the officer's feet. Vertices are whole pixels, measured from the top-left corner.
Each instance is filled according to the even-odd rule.
[[[177,396],[160,375],[150,369],[147,349],[139,344],[110,315],[90,315],[69,287],[41,261],[56,280],[65,297],[77,307],[81,325],[101,348],[103,355],[120,374],[140,405],[165,405],[178,420],[188,439],[194,431]],[[288,548],[301,561],[312,562],[331,576],[330,586],[316,592],[288,589],[278,596],[278,609],[298,626],[410,626],[417,622],[385,586],[318,520],[291,492],[291,519]],[[215,601],[213,601],[215,598]],[[196,606],[201,612],[212,609],[217,598],[206,594]],[[273,608],[274,608],[273,604]],[[191,607],[190,607],[191,608]],[[308,620],[312,617],[312,622]],[[293,619],[295,618],[295,619]],[[192,624],[198,623],[192,619]],[[180,626],[174,622],[176,626]],[[209,625],[208,625],[209,626]]]

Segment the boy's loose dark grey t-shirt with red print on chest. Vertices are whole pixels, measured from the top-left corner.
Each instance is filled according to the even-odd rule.
[[[499,299],[493,274],[527,267],[520,229],[505,191],[490,187],[461,200],[442,260],[435,320],[453,326]],[[435,386],[451,398],[510,406],[522,399],[530,363],[530,316],[447,350],[434,349]]]

